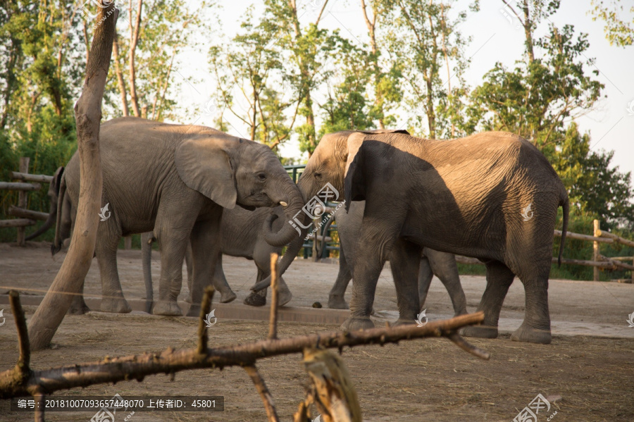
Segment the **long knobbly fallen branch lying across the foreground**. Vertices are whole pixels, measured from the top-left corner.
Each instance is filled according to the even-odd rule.
[[[302,335],[279,340],[261,340],[246,345],[225,346],[206,349],[199,353],[196,349],[175,350],[168,347],[161,353],[145,353],[134,356],[108,358],[99,362],[63,366],[42,371],[31,371],[29,362],[28,337],[24,312],[20,306],[18,293],[11,301],[11,309],[18,325],[21,366],[0,373],[0,399],[35,396],[37,393],[51,394],[58,390],[87,387],[101,383],[118,383],[124,380],[143,380],[146,376],[159,373],[176,373],[187,369],[223,368],[225,366],[254,366],[257,359],[281,354],[300,353],[305,348],[338,348],[356,345],[384,345],[423,337],[447,337],[461,348],[482,359],[489,354],[468,345],[456,331],[466,325],[480,323],[483,312],[456,316],[444,321],[430,322],[423,327],[399,325],[390,328],[373,328],[354,332],[333,331],[313,335]],[[211,302],[211,301],[210,301]],[[209,305],[208,305],[209,306]],[[27,376],[25,376],[27,374]]]

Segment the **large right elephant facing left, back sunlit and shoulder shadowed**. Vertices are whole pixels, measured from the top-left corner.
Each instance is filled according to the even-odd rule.
[[[526,292],[526,314],[511,340],[552,341],[548,277],[553,230],[561,206],[561,264],[568,192],[545,156],[526,139],[510,132],[445,141],[402,130],[335,132],[322,137],[298,185],[306,206],[290,221],[299,236],[288,247],[281,271],[302,247],[312,217],[306,210],[314,209],[320,200],[316,195],[343,192],[347,210],[352,201],[366,201],[351,265],[351,316],[342,330],[374,326],[369,316],[388,256],[397,288],[397,323],[414,321],[424,246],[485,263],[487,286],[478,305],[485,319],[466,328],[465,335],[497,337],[499,312],[517,275]],[[265,279],[251,289],[268,283]]]

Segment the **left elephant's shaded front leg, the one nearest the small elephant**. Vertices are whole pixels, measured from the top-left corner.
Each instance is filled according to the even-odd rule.
[[[187,316],[199,316],[205,287],[212,285],[213,274],[220,254],[220,217],[223,209],[218,207],[217,216],[199,221],[192,229],[192,261],[194,278],[192,281],[192,305]]]

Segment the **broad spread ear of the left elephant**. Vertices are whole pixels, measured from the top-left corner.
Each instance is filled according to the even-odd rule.
[[[233,209],[237,199],[235,170],[226,149],[226,139],[209,135],[192,137],[176,149],[174,161],[187,187],[224,208]]]

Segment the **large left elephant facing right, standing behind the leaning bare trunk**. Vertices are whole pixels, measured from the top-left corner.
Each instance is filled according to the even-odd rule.
[[[171,125],[142,118],[116,118],[101,125],[104,208],[97,230],[103,299],[101,311],[130,312],[117,272],[120,237],[154,231],[161,249],[159,300],[153,312],[180,316],[176,303],[182,285],[182,260],[192,243],[192,306],[198,316],[204,286],[215,271],[223,209],[282,205],[291,218],[304,201],[297,185],[266,145],[196,125]],[[77,209],[79,159],[70,159],[61,181],[58,209],[68,197]],[[68,192],[68,195],[66,195]],[[109,206],[109,208],[108,208]],[[57,215],[53,252],[61,248],[62,212]],[[65,226],[65,225],[64,225]],[[266,242],[283,246],[292,227],[264,227]]]

